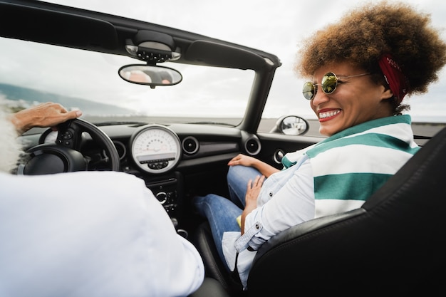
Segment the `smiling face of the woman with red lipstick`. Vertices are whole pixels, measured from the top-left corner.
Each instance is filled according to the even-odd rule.
[[[311,109],[316,113],[322,135],[331,136],[348,127],[353,127],[369,120],[393,115],[388,98],[390,90],[375,83],[370,75],[351,78],[346,76],[367,73],[362,68],[352,67],[348,63],[336,63],[318,68],[314,73],[313,83],[320,84],[323,75],[328,72],[338,76],[338,85],[331,94],[323,93],[321,85],[310,101]]]

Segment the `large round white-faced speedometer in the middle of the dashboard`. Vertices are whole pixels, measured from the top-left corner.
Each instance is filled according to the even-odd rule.
[[[135,165],[145,172],[167,172],[180,162],[180,138],[165,126],[142,127],[132,135],[130,145]]]

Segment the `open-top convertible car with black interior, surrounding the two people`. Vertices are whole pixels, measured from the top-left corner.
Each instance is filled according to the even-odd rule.
[[[0,23],[0,95],[11,110],[53,101],[83,111],[57,132],[21,135],[26,155],[14,174],[115,170],[144,179],[202,255],[207,278],[197,293],[445,293],[444,123],[413,124],[422,149],[363,207],[264,244],[242,291],[191,199],[229,197],[227,162],[239,153],[281,168],[286,152],[323,140],[311,118],[266,113],[279,58],[43,1],[0,1]]]

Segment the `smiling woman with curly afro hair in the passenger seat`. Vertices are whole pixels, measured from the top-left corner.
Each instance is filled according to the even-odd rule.
[[[430,15],[404,3],[358,6],[301,43],[296,72],[308,78],[302,93],[327,138],[286,154],[282,170],[237,155],[228,163],[230,199],[195,197],[245,289],[256,250],[271,236],[361,207],[418,151],[403,99],[426,93],[445,63]]]

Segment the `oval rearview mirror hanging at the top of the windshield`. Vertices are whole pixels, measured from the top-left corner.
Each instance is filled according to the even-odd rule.
[[[123,80],[139,85],[176,85],[182,80],[180,72],[164,66],[126,65],[119,69],[118,74]]]

